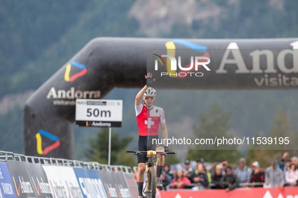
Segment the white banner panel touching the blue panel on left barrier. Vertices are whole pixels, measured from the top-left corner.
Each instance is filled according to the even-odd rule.
[[[64,184],[72,198],[83,198],[76,174],[72,167],[58,166]]]

